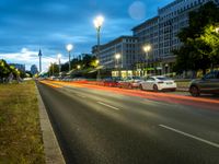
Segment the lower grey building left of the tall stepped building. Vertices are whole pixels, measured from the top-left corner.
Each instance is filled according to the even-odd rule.
[[[107,44],[101,45],[99,60],[103,69],[124,70],[124,74],[135,68],[137,38],[132,36],[120,36]],[[96,54],[96,46],[92,52]],[[118,58],[116,59],[116,55]]]

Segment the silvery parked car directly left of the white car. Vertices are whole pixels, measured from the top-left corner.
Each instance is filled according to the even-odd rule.
[[[140,77],[128,77],[128,78],[119,81],[118,86],[125,87],[125,89],[139,87],[141,81],[142,80]]]

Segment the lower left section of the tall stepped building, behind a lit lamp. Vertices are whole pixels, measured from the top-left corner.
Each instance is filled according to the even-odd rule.
[[[159,54],[159,16],[147,20],[132,28],[134,36],[138,38],[136,50],[136,69],[150,73],[161,73]],[[143,47],[150,45],[151,50],[146,52]],[[150,68],[150,69],[149,69]]]

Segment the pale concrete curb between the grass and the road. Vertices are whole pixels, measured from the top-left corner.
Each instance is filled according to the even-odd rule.
[[[46,164],[66,164],[37,86],[36,94],[38,99],[39,121],[43,132]]]

